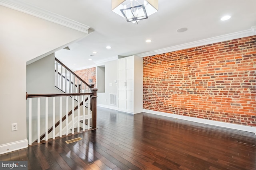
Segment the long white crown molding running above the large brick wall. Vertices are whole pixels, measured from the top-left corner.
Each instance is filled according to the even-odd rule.
[[[231,39],[249,37],[249,36],[253,36],[253,35],[256,35],[256,26],[252,26],[251,29],[248,29],[248,30],[245,30],[245,31],[239,31],[239,32],[236,32],[236,33],[220,35],[218,37],[202,39],[202,40],[194,41],[194,42],[191,42],[191,43],[175,45],[175,46],[167,47],[167,48],[164,48],[164,49],[159,49],[159,50],[155,50],[155,51],[141,53],[141,54],[138,54],[136,56],[148,57],[148,56],[152,56],[152,55],[158,55],[158,54],[168,53],[168,52],[172,52],[172,51],[178,51],[178,50],[182,50],[182,49],[189,49],[189,48],[192,48],[192,47],[198,47],[198,46],[212,44],[212,43],[219,43],[219,42],[222,42],[222,41],[228,41],[228,40],[231,40]]]

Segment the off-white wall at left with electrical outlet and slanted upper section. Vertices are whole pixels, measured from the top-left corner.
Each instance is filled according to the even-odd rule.
[[[8,147],[26,140],[26,62],[84,36],[0,6],[0,153],[16,150]],[[11,123],[18,123],[17,131],[11,131]]]

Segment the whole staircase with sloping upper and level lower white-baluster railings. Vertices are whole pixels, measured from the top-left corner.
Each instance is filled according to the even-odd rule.
[[[32,141],[40,143],[74,134],[75,129],[79,133],[80,127],[82,131],[96,129],[97,89],[94,84],[87,84],[56,58],[54,65],[55,87],[60,93],[26,95],[29,145]]]

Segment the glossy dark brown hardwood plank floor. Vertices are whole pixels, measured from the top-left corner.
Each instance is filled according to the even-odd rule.
[[[33,170],[256,170],[256,135],[98,107],[98,129],[0,155]],[[82,140],[66,144],[65,141]]]

